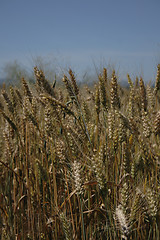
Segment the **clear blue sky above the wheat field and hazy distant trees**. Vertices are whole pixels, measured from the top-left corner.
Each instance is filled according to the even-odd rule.
[[[160,0],[0,0],[1,75],[7,62],[30,67],[37,56],[154,80]]]

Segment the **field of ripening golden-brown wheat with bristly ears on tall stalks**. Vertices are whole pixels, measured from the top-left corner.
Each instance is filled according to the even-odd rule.
[[[1,89],[1,239],[160,239],[160,65],[154,88],[34,73]]]

